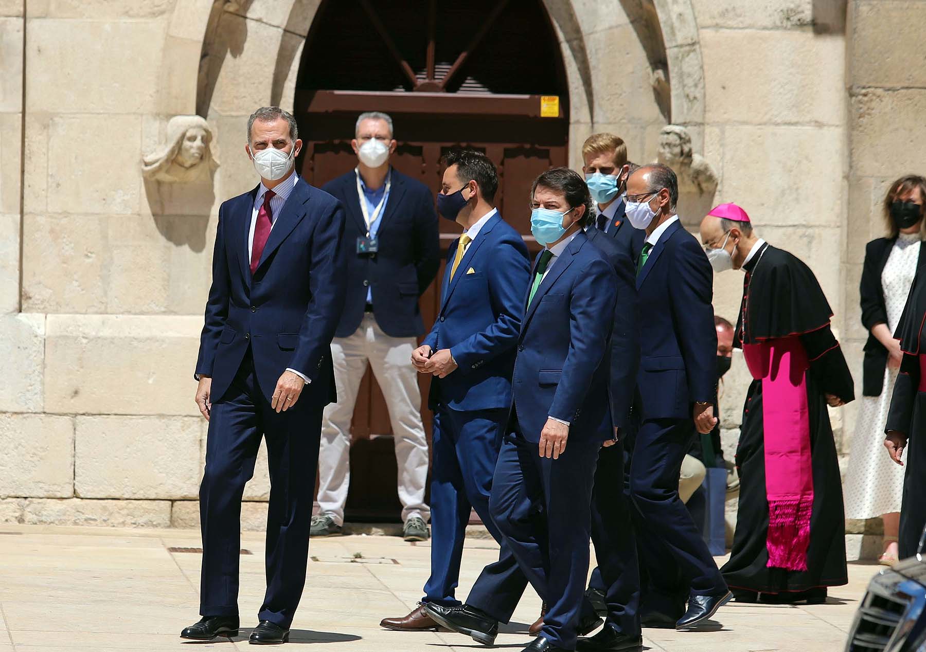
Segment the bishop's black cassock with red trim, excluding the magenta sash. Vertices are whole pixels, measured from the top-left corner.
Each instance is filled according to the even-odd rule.
[[[813,272],[792,254],[763,244],[743,268],[744,297],[735,345],[796,337],[809,361],[807,407],[813,505],[807,571],[769,568],[765,428],[762,381],[749,387],[736,465],[740,498],[730,561],[720,570],[733,589],[760,593],[802,592],[847,582],[843,489],[826,394],[846,403],[855,397],[852,375],[832,335],[832,310]],[[745,319],[744,319],[745,318]]]

